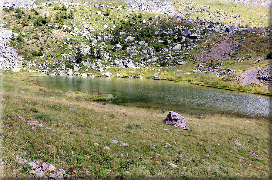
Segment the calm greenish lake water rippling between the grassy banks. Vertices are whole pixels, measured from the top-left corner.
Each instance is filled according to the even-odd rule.
[[[186,111],[190,114],[228,113],[268,118],[270,96],[228,91],[189,83],[109,77],[33,78],[34,83],[60,91],[112,94],[112,103]]]

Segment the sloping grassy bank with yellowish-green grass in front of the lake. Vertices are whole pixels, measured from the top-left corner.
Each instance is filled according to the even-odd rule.
[[[82,100],[19,74],[3,73],[0,79],[4,178],[30,177],[30,168],[16,156],[49,162],[66,173],[73,168],[78,179],[265,179],[268,174],[266,121],[180,113],[190,127],[185,131],[163,124],[167,113],[159,110]],[[30,129],[19,116],[52,129]]]

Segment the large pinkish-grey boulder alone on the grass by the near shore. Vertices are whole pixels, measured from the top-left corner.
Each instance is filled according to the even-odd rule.
[[[167,115],[166,119],[163,120],[165,124],[178,127],[183,130],[190,130],[187,123],[188,121],[182,117],[180,114],[170,111],[169,114]]]

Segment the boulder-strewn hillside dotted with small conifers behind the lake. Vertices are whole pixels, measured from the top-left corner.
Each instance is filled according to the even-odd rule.
[[[269,83],[263,82],[270,81],[269,73],[260,78],[271,58],[267,54],[272,30],[262,25],[265,22],[255,21],[256,27],[226,24],[224,17],[233,14],[194,2],[17,1],[2,3],[1,8],[0,68],[6,72],[160,76],[243,91],[237,72],[261,66],[256,75],[261,81],[252,81],[260,87],[253,91],[268,92]],[[188,18],[194,11],[202,17]],[[219,18],[203,18],[205,13]],[[197,74],[212,76],[218,85]]]

